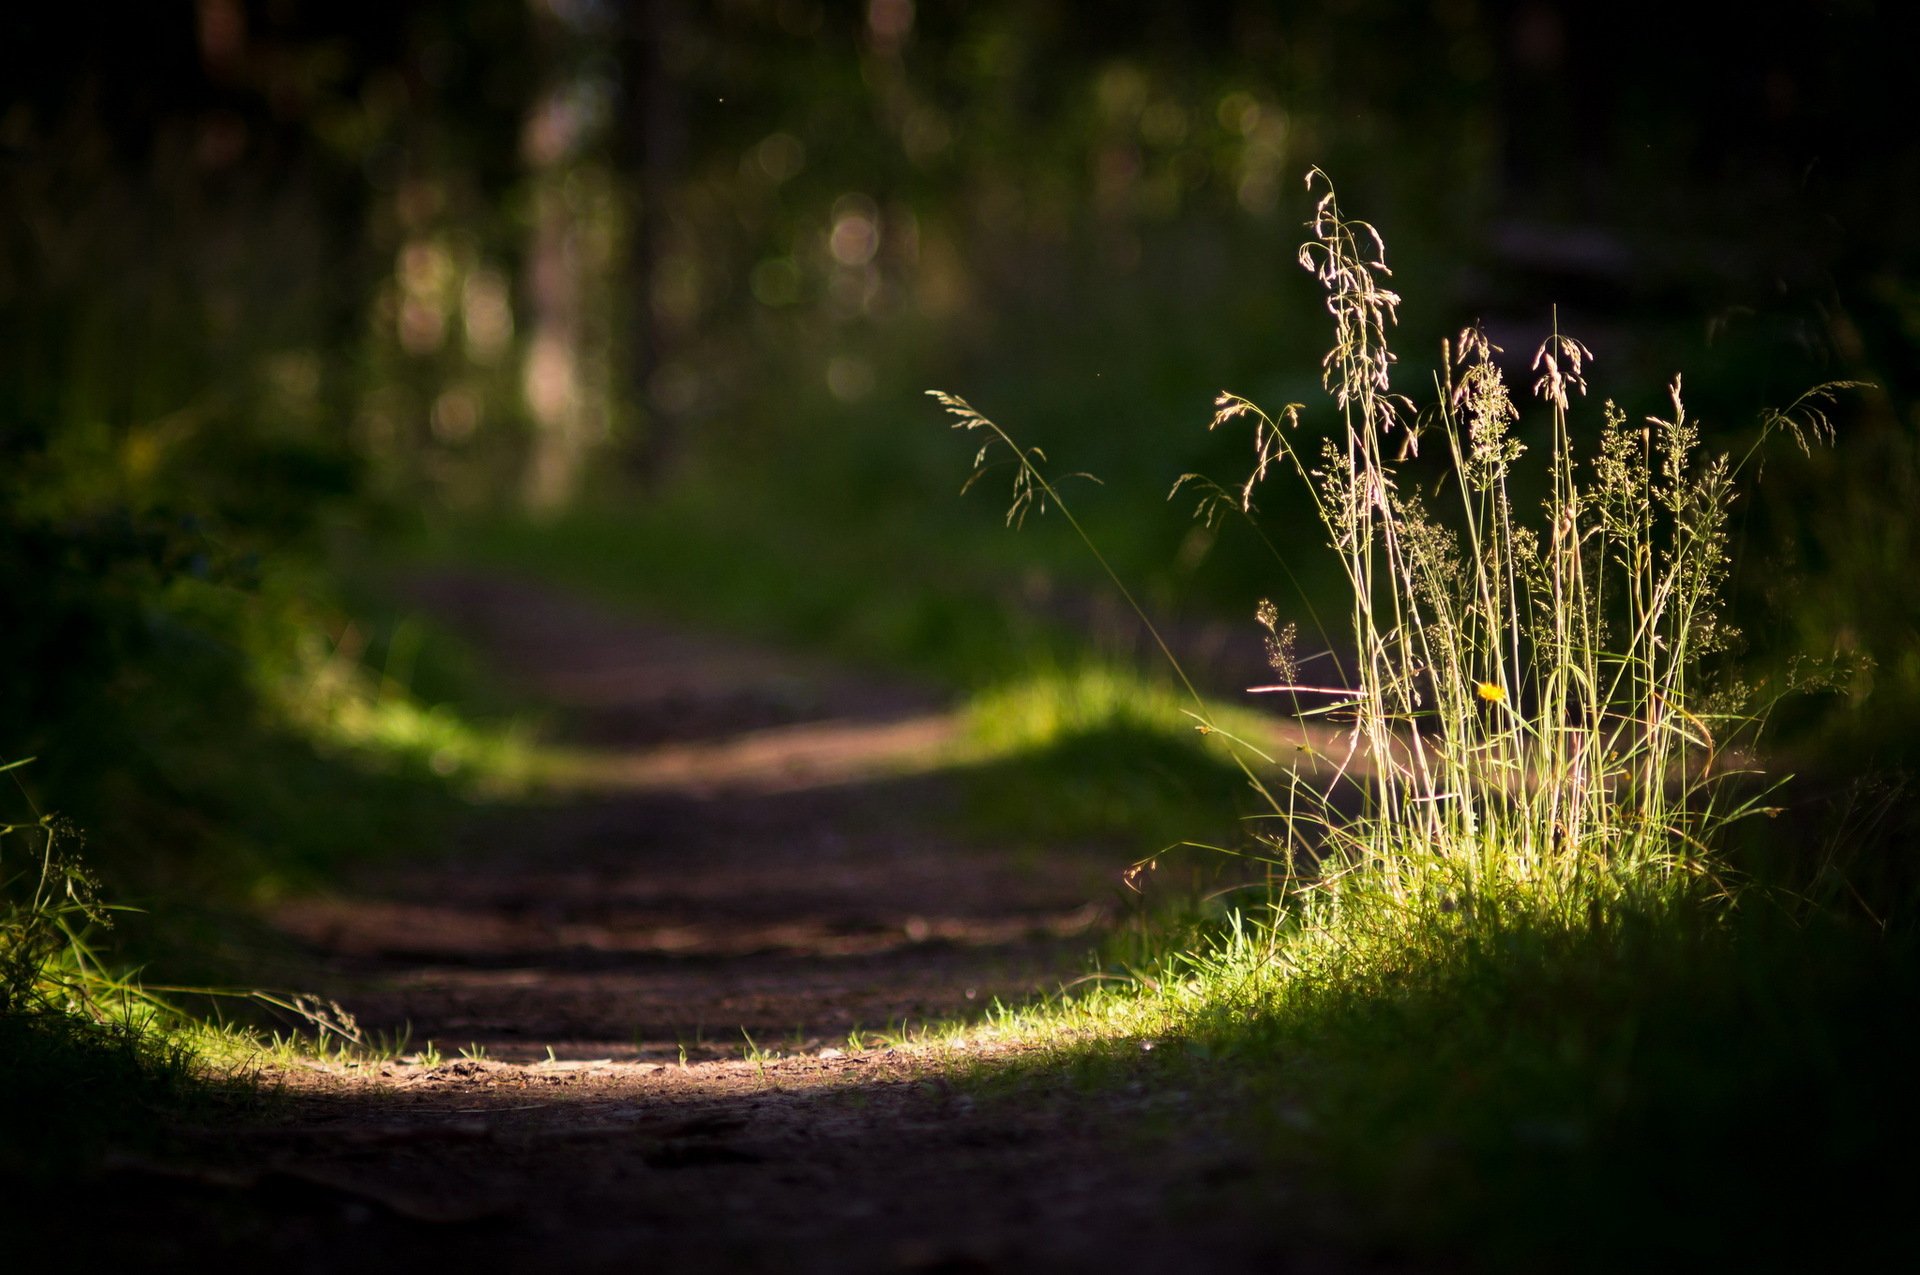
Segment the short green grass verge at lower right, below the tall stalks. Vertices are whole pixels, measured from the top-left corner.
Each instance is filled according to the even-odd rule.
[[[1144,1091],[1150,1137],[1238,1146],[1198,1208],[1359,1250],[1778,1269],[1905,1244],[1910,935],[1753,901],[1298,968],[1323,939],[1263,920],[1004,1018],[1044,1048],[977,1083]]]

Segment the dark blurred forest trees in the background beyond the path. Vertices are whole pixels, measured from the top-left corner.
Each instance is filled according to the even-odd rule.
[[[1899,10],[1699,48],[1515,0],[21,6],[8,455],[115,451],[132,507],[192,470],[248,526],[367,484],[551,507],[803,367],[858,401],[1002,357],[1010,315],[1298,357],[1256,328],[1309,163],[1432,332],[1559,301],[1905,378]]]

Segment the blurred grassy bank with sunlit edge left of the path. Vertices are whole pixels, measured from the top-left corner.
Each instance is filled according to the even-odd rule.
[[[56,810],[121,902],[184,918],[426,845],[463,799],[513,791],[526,732],[447,686],[424,699],[396,651],[420,626],[336,599],[298,565],[252,588],[167,582],[142,601],[140,643],[27,722],[36,760],[0,816]],[[457,668],[444,638],[424,641],[436,674]]]

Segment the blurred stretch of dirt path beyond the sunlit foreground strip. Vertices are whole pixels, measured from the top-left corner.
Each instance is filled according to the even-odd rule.
[[[568,743],[568,793],[451,858],[276,922],[361,1023],[488,1058],[818,1052],[1075,974],[1117,864],[966,845],[925,689],[614,618],[484,574],[411,580]]]

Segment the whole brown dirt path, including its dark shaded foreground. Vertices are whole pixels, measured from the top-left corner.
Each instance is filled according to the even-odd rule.
[[[935,695],[526,582],[411,588],[599,749],[589,791],[488,810],[445,862],[280,910],[313,979],[442,1062],[301,1070],[257,1125],[121,1164],[134,1223],[154,1223],[129,1256],[1327,1265],[1202,1208],[1244,1171],[1206,1121],[1139,1137],[1142,1116],[1179,1127],[1192,1095],[1060,1083],[975,1100],[924,1052],[858,1048],[862,1031],[1058,985],[1116,901],[1112,856],[950,831],[958,799],[933,762],[954,726]],[[743,1058],[743,1033],[789,1056]]]

